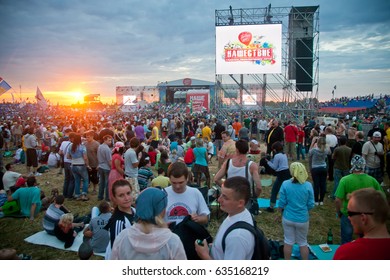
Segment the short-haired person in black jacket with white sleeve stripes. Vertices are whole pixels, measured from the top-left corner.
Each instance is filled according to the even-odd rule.
[[[111,258],[111,249],[119,233],[125,228],[131,227],[134,223],[135,208],[132,207],[133,197],[131,193],[132,187],[125,179],[116,180],[112,184],[112,201],[116,206],[108,224],[104,227],[110,235],[105,254],[106,260]]]

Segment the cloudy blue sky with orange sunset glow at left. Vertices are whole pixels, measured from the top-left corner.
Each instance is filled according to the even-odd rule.
[[[390,94],[390,1],[1,0],[0,77],[53,103],[215,80],[215,10],[320,5],[319,99]],[[9,99],[9,92],[0,100]],[[32,98],[33,99],[33,98]]]

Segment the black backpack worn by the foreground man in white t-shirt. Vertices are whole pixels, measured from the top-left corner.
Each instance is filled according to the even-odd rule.
[[[249,230],[255,237],[255,248],[252,255],[252,260],[269,260],[271,257],[271,250],[267,238],[265,238],[263,231],[257,227],[255,219],[253,219],[253,226],[247,222],[239,221],[232,224],[224,233],[222,237],[222,250],[225,252],[226,236],[235,229],[243,228]]]

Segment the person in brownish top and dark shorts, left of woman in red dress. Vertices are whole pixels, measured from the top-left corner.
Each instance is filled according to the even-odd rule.
[[[87,157],[89,166],[91,167],[88,169],[88,178],[89,178],[89,184],[92,184],[92,194],[96,194],[96,188],[99,183],[99,177],[98,177],[98,157],[97,157],[97,151],[99,149],[99,142],[96,141],[93,137],[95,135],[95,132],[93,130],[89,130],[85,133],[85,137],[87,141],[85,141],[85,148],[87,149]]]

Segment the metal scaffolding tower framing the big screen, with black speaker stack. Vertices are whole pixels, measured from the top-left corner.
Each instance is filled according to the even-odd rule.
[[[253,94],[248,85],[257,84],[256,106],[265,115],[274,112],[287,119],[302,119],[318,109],[319,87],[319,6],[229,9],[215,11],[215,26],[282,24],[282,72],[279,74],[216,74],[216,111],[246,111],[243,93]],[[236,87],[239,96],[231,96],[229,87]],[[259,96],[258,96],[259,95]],[[230,98],[229,98],[230,97]],[[229,106],[224,99],[230,99]],[[270,107],[271,101],[280,104]],[[227,107],[229,109],[227,109]],[[225,113],[224,113],[225,111]]]

